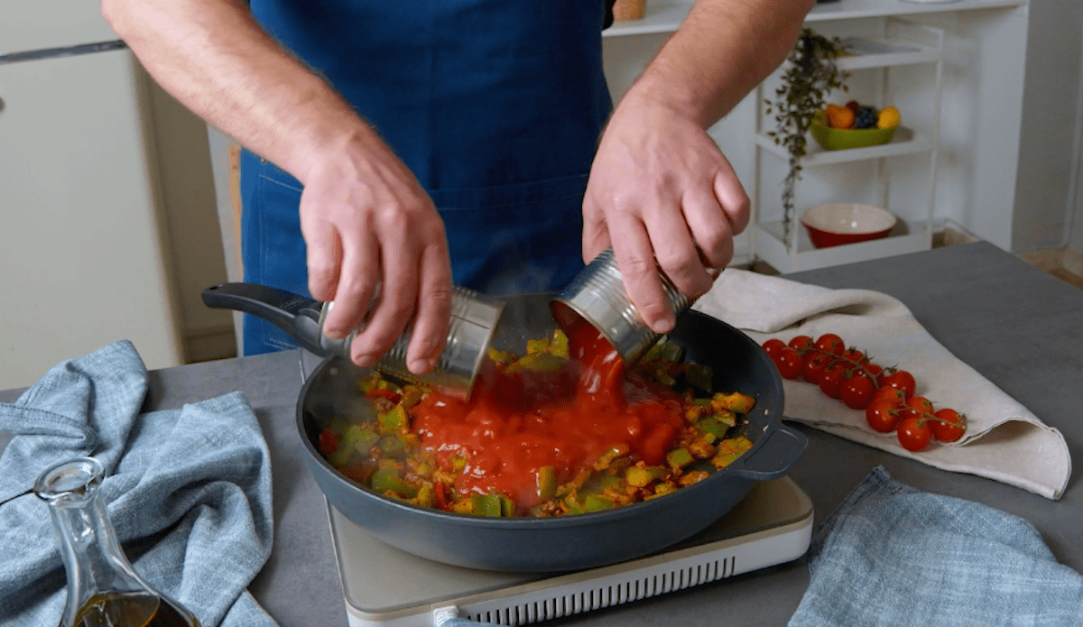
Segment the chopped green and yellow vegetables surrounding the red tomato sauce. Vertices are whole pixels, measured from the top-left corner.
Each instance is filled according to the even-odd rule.
[[[381,495],[460,514],[569,515],[657,498],[707,479],[712,467],[725,468],[752,447],[747,439],[729,435],[740,423],[740,416],[752,410],[755,399],[740,392],[715,393],[710,367],[681,363],[682,353],[679,345],[661,342],[635,368],[621,370],[619,375],[638,378],[643,386],[653,386],[651,390],[663,390],[654,402],[664,407],[660,410],[671,412],[666,414],[670,421],[630,418],[627,433],[638,437],[635,446],[619,441],[625,437],[623,431],[604,431],[602,442],[610,441],[611,433],[615,435],[612,445],[590,448],[589,456],[577,465],[554,466],[550,461],[527,466],[523,478],[534,485],[526,483],[518,493],[529,501],[525,505],[509,494],[492,488],[484,493],[464,483],[471,475],[490,472],[499,462],[462,445],[423,448],[426,407],[442,402],[440,396],[430,396],[432,392],[420,386],[399,386],[375,370],[356,383],[376,407],[375,416],[334,418],[319,433],[318,448],[344,476]],[[510,389],[517,380],[512,377],[545,386],[561,384],[559,373],[567,365],[569,354],[569,339],[561,331],[531,340],[522,356],[488,351],[493,365],[507,377],[505,383],[512,386]],[[641,419],[644,422],[638,422]],[[484,429],[500,428],[496,415],[479,416],[479,420]]]

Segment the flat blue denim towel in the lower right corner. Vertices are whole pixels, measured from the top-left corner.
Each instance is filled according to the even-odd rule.
[[[823,523],[790,627],[1083,625],[1083,576],[1026,520],[877,467]]]

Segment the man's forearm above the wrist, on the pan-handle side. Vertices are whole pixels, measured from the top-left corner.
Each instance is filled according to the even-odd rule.
[[[322,146],[367,126],[237,0],[103,0],[151,75],[211,125],[302,182]]]

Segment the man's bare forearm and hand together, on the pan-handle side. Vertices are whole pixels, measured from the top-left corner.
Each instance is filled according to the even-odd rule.
[[[247,2],[103,0],[102,12],[174,97],[304,185],[309,289],[335,301],[328,335],[364,323],[351,352],[373,365],[413,321],[407,367],[431,369],[447,338],[451,262],[444,224],[406,166]]]

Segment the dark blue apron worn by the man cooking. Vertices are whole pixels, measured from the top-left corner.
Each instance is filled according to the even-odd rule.
[[[612,108],[605,0],[252,0],[251,10],[432,196],[457,285],[559,289],[583,267],[583,194]],[[308,295],[301,184],[246,152],[240,185],[245,280]],[[246,354],[292,345],[246,316]]]

